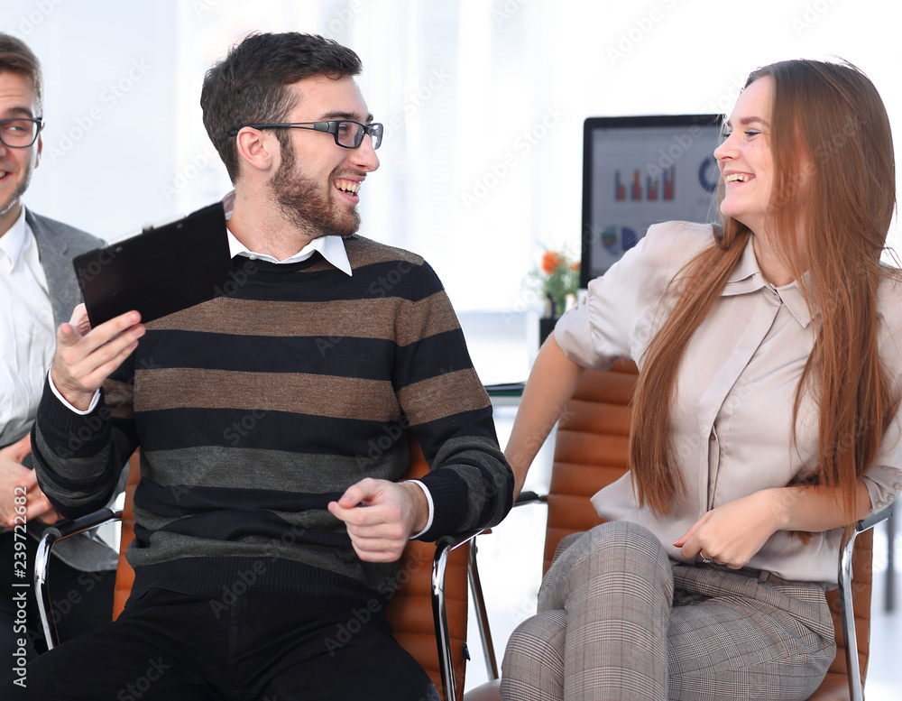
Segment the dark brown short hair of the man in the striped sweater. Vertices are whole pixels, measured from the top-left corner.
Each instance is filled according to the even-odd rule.
[[[232,182],[238,175],[235,129],[284,122],[296,103],[287,88],[302,78],[345,78],[361,69],[354,51],[316,34],[254,33],[232,47],[207,70],[200,92],[204,126]],[[277,136],[286,147],[287,135]]]

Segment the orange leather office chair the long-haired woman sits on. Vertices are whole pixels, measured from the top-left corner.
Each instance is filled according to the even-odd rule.
[[[625,361],[606,373],[586,371],[583,374],[567,405],[565,418],[558,424],[548,495],[521,494],[518,499],[518,503],[548,503],[543,572],[550,567],[557,544],[566,535],[589,530],[601,522],[589,502],[590,497],[619,479],[628,469],[628,404],[636,378],[636,366]],[[838,650],[824,683],[810,701],[861,701],[863,698],[870,639],[870,529],[887,516],[888,512],[884,511],[859,522],[843,543],[839,555],[840,588],[827,595],[833,611]],[[474,553],[475,547],[471,550]],[[474,554],[471,554],[471,560],[474,560]],[[478,580],[478,576],[475,579]],[[480,626],[485,625],[481,637],[486,667],[489,678],[494,681],[468,692],[465,701],[497,701],[501,698],[491,632],[484,619],[481,599],[481,592],[474,592],[477,617]],[[844,632],[849,633],[851,645],[846,645]]]

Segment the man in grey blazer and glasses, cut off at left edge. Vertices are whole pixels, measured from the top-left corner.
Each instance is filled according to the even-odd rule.
[[[43,650],[30,584],[37,539],[59,514],[30,469],[28,432],[56,327],[80,299],[71,259],[102,245],[22,204],[41,160],[41,88],[32,51],[0,33],[0,679]],[[87,536],[60,545],[51,595],[58,628],[71,638],[109,621],[116,554]]]

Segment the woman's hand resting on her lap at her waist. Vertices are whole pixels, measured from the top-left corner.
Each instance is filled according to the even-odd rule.
[[[772,503],[773,490],[764,490],[725,503],[707,512],[676,540],[683,557],[704,557],[731,569],[745,567],[781,528]]]

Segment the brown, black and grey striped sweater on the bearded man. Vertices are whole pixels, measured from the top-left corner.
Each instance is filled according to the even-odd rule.
[[[326,507],[364,476],[400,478],[408,430],[431,468],[423,540],[510,510],[511,468],[437,275],[360,236],[345,247],[351,277],[319,254],[236,257],[223,296],[147,325],[85,417],[45,389],[35,462],[64,515],[103,506],[141,447],[133,596],[216,593],[249,573],[263,591],[382,590],[396,565],[357,558]]]

